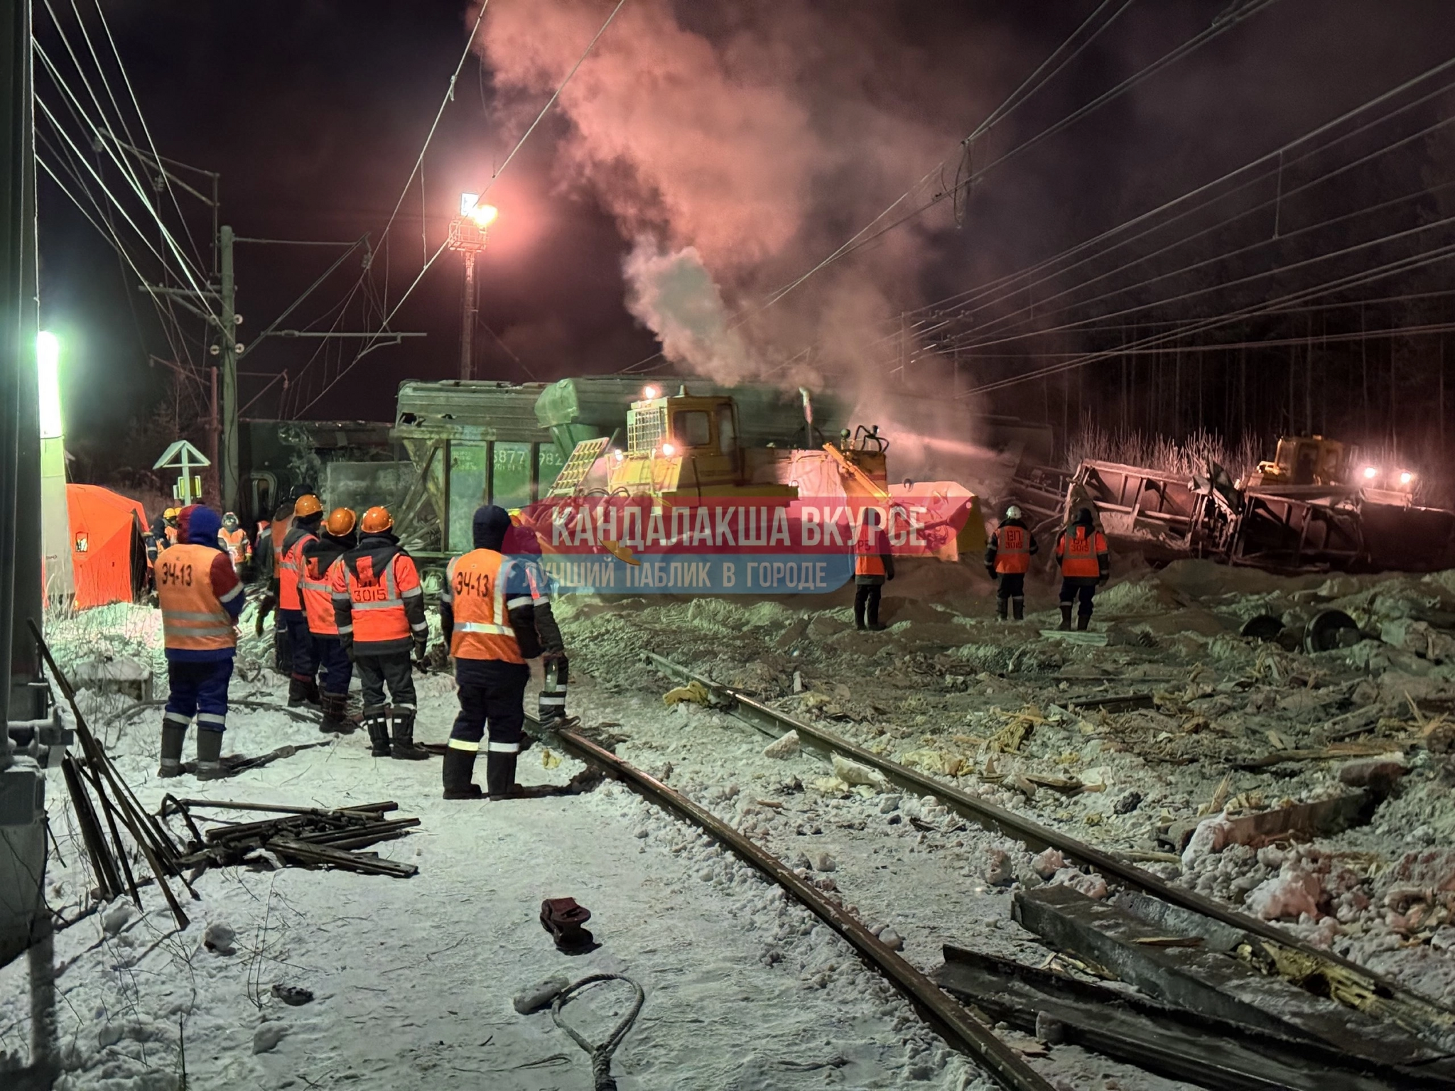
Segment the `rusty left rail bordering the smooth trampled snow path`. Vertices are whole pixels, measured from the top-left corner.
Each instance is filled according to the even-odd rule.
[[[944,1036],[950,1046],[968,1053],[985,1066],[991,1076],[1001,1087],[1007,1088],[1007,1091],[1052,1091],[1052,1085],[1027,1065],[1020,1053],[1001,1042],[989,1027],[981,1024],[959,1001],[952,999],[930,978],[889,950],[889,947],[879,941],[879,937],[860,924],[851,914],[845,912],[841,905],[825,898],[818,887],[789,870],[781,860],[755,845],[739,831],[682,793],[668,787],[585,736],[566,729],[541,729],[531,717],[527,717],[527,722],[534,730],[544,730],[557,739],[562,749],[572,756],[605,770],[610,775],[652,803],[701,828],[713,839],[726,845],[739,858],[752,864],[771,882],[781,886],[809,912],[844,937],[870,966],[877,969],[914,1004],[920,1014]]]

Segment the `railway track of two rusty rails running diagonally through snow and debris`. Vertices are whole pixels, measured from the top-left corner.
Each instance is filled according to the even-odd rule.
[[[1023,967],[1010,964],[988,966],[995,960],[949,947],[946,966],[931,978],[880,943],[837,899],[825,895],[709,809],[579,732],[549,733],[563,751],[601,768],[653,804],[698,826],[770,882],[781,886],[899,989],[954,1049],[972,1056],[1010,1091],[1043,1091],[1051,1087],[1020,1052],[1007,1046],[991,1030],[991,1023],[997,1020],[1017,1024],[1017,1014],[1024,1017],[1026,1005],[1039,1011],[1039,1015],[1032,1015],[1032,1026],[1037,1030],[1039,1018],[1045,1015],[1051,1020],[1048,1026],[1056,1027],[1058,1033],[1067,1036],[1065,1040],[1080,1042],[1109,1056],[1206,1087],[1235,1091],[1285,1087],[1310,1091],[1333,1088],[1381,1091],[1452,1085],[1455,1012],[1433,1001],[1411,994],[1331,951],[1310,947],[1264,921],[1173,886],[1115,854],[874,755],[832,732],[780,713],[730,687],[701,678],[671,659],[653,653],[647,653],[646,659],[672,681],[701,684],[719,710],[765,736],[776,739],[789,730],[796,730],[800,745],[822,758],[837,754],[867,765],[886,783],[920,796],[933,796],[962,818],[1020,841],[1030,850],[1059,850],[1068,860],[1100,873],[1109,884],[1145,896],[1148,905],[1164,906],[1167,916],[1161,921],[1165,925],[1163,931],[1177,927],[1181,932],[1221,938],[1224,947],[1229,935],[1238,941],[1245,940],[1257,948],[1256,953],[1272,973],[1295,982],[1315,996],[1340,1001],[1350,1010],[1350,1018],[1362,1017],[1390,1026],[1394,1040],[1404,1039],[1413,1043],[1401,1060],[1411,1055],[1419,1058],[1419,1063],[1413,1065],[1388,1058],[1382,1062],[1371,1060],[1368,1050],[1356,1056],[1358,1050],[1344,1052],[1340,1046],[1314,1036],[1289,1036],[1283,1033],[1286,1031],[1283,1026],[1259,1028],[1235,1017],[1222,1018],[1218,1012],[1192,1014],[1179,1010],[1176,1004],[1144,1004],[1129,1001],[1123,994],[1104,991],[1099,995],[1097,986],[1084,986],[1058,975],[1049,975],[1055,980],[1033,980],[1036,972],[1021,972]],[[538,724],[534,729],[538,732]],[[1017,912],[1021,911],[1033,912],[1036,906],[1023,902],[1017,895]],[[1248,954],[1247,947],[1243,953]],[[1011,978],[1017,980],[1010,982]],[[1007,996],[1016,994],[1017,988],[1024,995],[1017,1002],[1008,1002]],[[950,994],[966,1002],[952,998]],[[981,1008],[976,999],[981,999],[985,1008]],[[1398,1053],[1398,1050],[1387,1052],[1391,1056]]]

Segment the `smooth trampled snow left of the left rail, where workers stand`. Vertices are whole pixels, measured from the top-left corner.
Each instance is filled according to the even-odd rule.
[[[154,615],[128,611],[119,623],[135,639]],[[76,652],[64,634],[58,643]],[[262,672],[236,684],[234,697],[278,700],[279,690]],[[422,826],[378,848],[419,874],[212,870],[196,883],[201,900],[185,900],[183,932],[154,889],[141,914],[113,902],[67,928],[57,938],[58,1088],[172,1088],[183,1065],[194,1088],[588,1088],[586,1055],[549,1014],[518,1015],[511,1001],[543,978],[595,972],[624,973],[646,991],[615,1058],[623,1091],[978,1085],[837,935],[618,786],[445,803],[436,761],[377,761],[362,733],[228,781],[159,781],[160,713],[122,723],[128,698],[83,700],[148,807],[166,791],[320,807],[391,799]],[[453,708],[447,678],[422,679],[420,738],[442,739]],[[226,752],[322,738],[276,711],[233,723]],[[560,783],[576,768],[566,759],[547,772],[537,749],[522,780]],[[65,858],[52,858],[48,896],[73,916],[89,880],[58,775],[48,799]],[[591,908],[598,950],[554,950],[535,919],[551,896]],[[231,954],[204,947],[220,924],[236,932]],[[288,1007],[274,985],[314,999]],[[602,986],[566,1017],[595,1039],[629,995]],[[26,1005],[22,960],[0,972],[0,1050],[25,1055]]]

